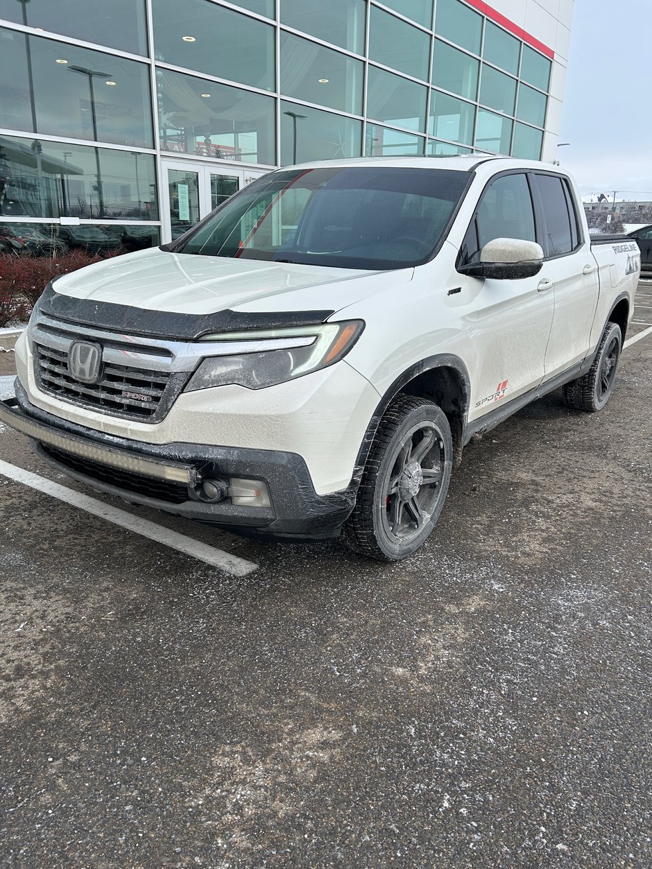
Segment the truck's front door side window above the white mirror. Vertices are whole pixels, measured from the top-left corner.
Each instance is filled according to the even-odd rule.
[[[520,238],[536,242],[535,216],[528,180],[524,175],[496,178],[482,194],[474,223],[462,251],[469,260],[495,238]]]

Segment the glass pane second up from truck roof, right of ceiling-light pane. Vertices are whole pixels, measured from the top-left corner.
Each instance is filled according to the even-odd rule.
[[[425,132],[427,96],[428,90],[422,84],[369,66],[368,117]]]

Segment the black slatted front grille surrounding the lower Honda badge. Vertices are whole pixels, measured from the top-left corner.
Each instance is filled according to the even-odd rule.
[[[170,382],[170,372],[104,362],[99,383],[80,383],[68,371],[68,353],[43,344],[35,343],[34,359],[44,392],[130,419],[151,420]]]

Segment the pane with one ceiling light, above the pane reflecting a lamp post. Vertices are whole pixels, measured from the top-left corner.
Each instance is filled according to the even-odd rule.
[[[307,103],[363,113],[363,62],[281,34],[281,92]]]

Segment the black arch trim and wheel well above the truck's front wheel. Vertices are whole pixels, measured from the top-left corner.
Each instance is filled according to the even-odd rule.
[[[358,452],[354,474],[357,481],[362,476],[371,443],[383,414],[396,395],[402,393],[403,395],[416,395],[423,398],[432,397],[434,403],[442,408],[453,435],[454,463],[457,466],[462,461],[462,444],[469,412],[471,381],[469,371],[459,356],[442,353],[429,356],[406,368],[385,391],[371,417]]]

